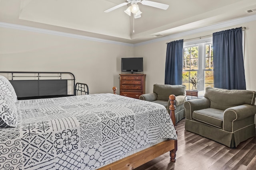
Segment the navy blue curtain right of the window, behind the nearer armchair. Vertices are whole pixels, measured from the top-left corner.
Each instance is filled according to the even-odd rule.
[[[242,27],[212,34],[214,87],[246,89]]]

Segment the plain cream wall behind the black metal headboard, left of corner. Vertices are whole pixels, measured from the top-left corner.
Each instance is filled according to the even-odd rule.
[[[121,58],[133,56],[125,45],[0,27],[1,71],[72,72],[90,94],[112,93]]]

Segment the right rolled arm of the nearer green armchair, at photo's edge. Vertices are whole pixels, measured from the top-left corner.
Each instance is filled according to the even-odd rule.
[[[223,130],[234,132],[238,127],[234,127],[236,121],[242,121],[256,113],[256,105],[243,104],[226,109],[223,114]],[[246,120],[248,122],[248,120]],[[254,118],[252,120],[254,122]],[[242,124],[242,122],[240,122]]]

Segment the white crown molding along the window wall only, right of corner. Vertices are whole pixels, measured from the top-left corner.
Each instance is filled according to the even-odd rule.
[[[176,33],[176,34],[172,34],[172,35],[168,35],[165,37],[160,37],[157,39],[153,39],[153,40],[149,40],[149,41],[144,41],[142,43],[136,43],[134,44],[134,47],[140,46],[140,45],[146,45],[146,44],[150,44],[150,43],[155,43],[155,42],[159,42],[159,41],[170,41],[170,39],[175,39],[175,38],[179,38],[179,37],[184,37],[187,35],[192,35],[192,34],[196,34],[196,33],[201,33],[204,31],[211,31],[214,29],[220,29],[223,27],[229,27],[232,25],[237,25],[240,23],[246,23],[246,22],[250,22],[250,21],[255,21],[256,20],[256,15],[252,15],[252,16],[247,16],[247,17],[243,17],[243,18],[237,18],[234,20],[229,20],[229,21],[225,21],[225,22],[221,22],[221,23],[216,23],[214,25],[210,25],[210,26],[206,26],[206,27],[202,27],[202,28],[198,28],[198,29],[193,29],[190,31],[185,31],[182,33]]]

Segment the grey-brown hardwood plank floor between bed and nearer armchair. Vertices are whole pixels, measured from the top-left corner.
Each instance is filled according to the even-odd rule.
[[[166,153],[134,170],[256,170],[256,137],[232,149],[185,131],[185,119],[176,129],[176,162],[170,162]]]

